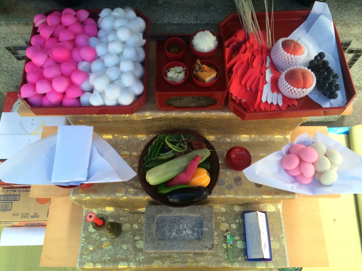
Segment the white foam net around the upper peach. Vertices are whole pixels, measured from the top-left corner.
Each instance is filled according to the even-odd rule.
[[[285,40],[290,40],[288,38],[281,38],[279,39],[275,45],[271,48],[270,56],[271,60],[273,61],[275,67],[279,69],[279,71],[283,72],[287,68],[291,68],[293,66],[300,65],[304,58],[307,55],[307,48],[303,46],[303,54],[302,55],[291,55],[284,51],[282,47],[282,42]]]

